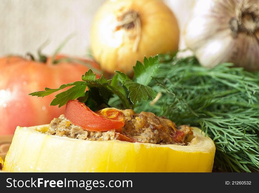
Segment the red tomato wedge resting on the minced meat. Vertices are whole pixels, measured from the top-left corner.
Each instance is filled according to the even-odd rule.
[[[124,118],[121,116],[121,112],[116,113],[114,110],[116,109],[107,114],[112,116],[112,118],[109,118],[109,116],[97,114],[99,111],[97,113],[93,112],[84,103],[69,100],[66,105],[65,117],[74,125],[80,126],[87,131],[109,131],[124,126]]]

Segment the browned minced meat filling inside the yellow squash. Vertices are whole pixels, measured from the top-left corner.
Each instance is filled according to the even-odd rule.
[[[122,110],[122,113],[125,122],[120,133],[137,142],[187,145],[186,140],[192,134],[189,126],[176,127],[171,120],[157,117],[154,113],[143,111],[135,113],[132,109]],[[59,118],[54,118],[51,121],[46,134],[91,141],[115,140],[118,137],[115,130],[86,131],[79,126],[73,125],[64,115],[60,115]]]

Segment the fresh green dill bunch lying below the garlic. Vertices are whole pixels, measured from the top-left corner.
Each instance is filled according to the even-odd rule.
[[[215,166],[225,171],[259,171],[259,73],[230,63],[207,69],[193,57],[160,61],[152,80],[157,98],[135,111],[200,127],[215,142]]]

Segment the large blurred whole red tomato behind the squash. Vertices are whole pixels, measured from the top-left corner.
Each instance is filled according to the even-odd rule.
[[[33,126],[49,123],[65,112],[65,107],[49,106],[55,93],[36,98],[29,93],[81,80],[91,68],[99,69],[91,60],[70,60],[66,56],[48,58],[45,63],[11,56],[0,58],[0,135],[13,134],[16,126]],[[84,64],[87,64],[84,65]],[[90,64],[90,67],[89,67]],[[97,77],[100,77],[97,75]]]

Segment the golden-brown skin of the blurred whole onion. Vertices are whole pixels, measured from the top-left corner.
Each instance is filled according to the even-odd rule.
[[[127,11],[134,11],[140,19],[140,40],[135,51],[135,27],[118,27],[119,16]],[[92,54],[108,73],[117,70],[130,74],[137,60],[177,51],[178,42],[177,20],[160,0],[108,0],[97,11],[91,28]]]

